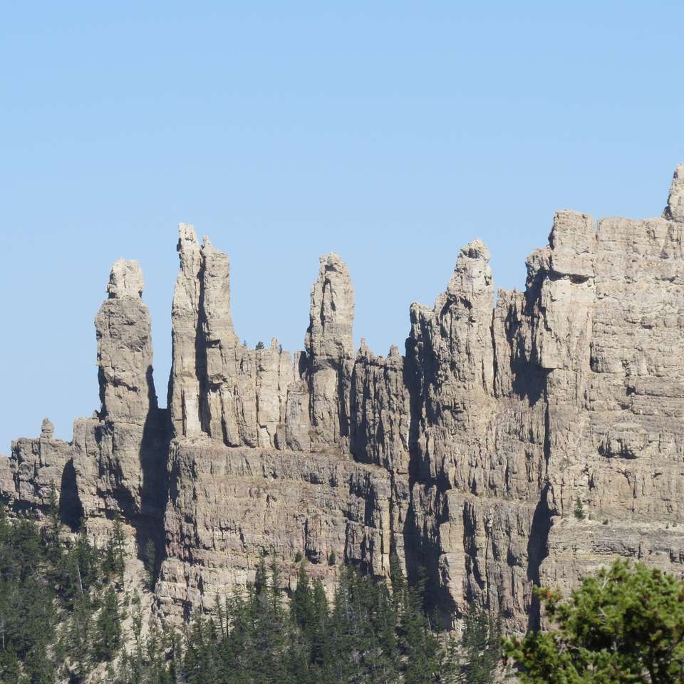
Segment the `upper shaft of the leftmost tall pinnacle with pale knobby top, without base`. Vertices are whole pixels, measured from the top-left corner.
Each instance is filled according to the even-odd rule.
[[[137,425],[157,408],[150,311],[140,299],[142,287],[138,261],[118,259],[109,277],[109,299],[95,316],[101,415]]]

